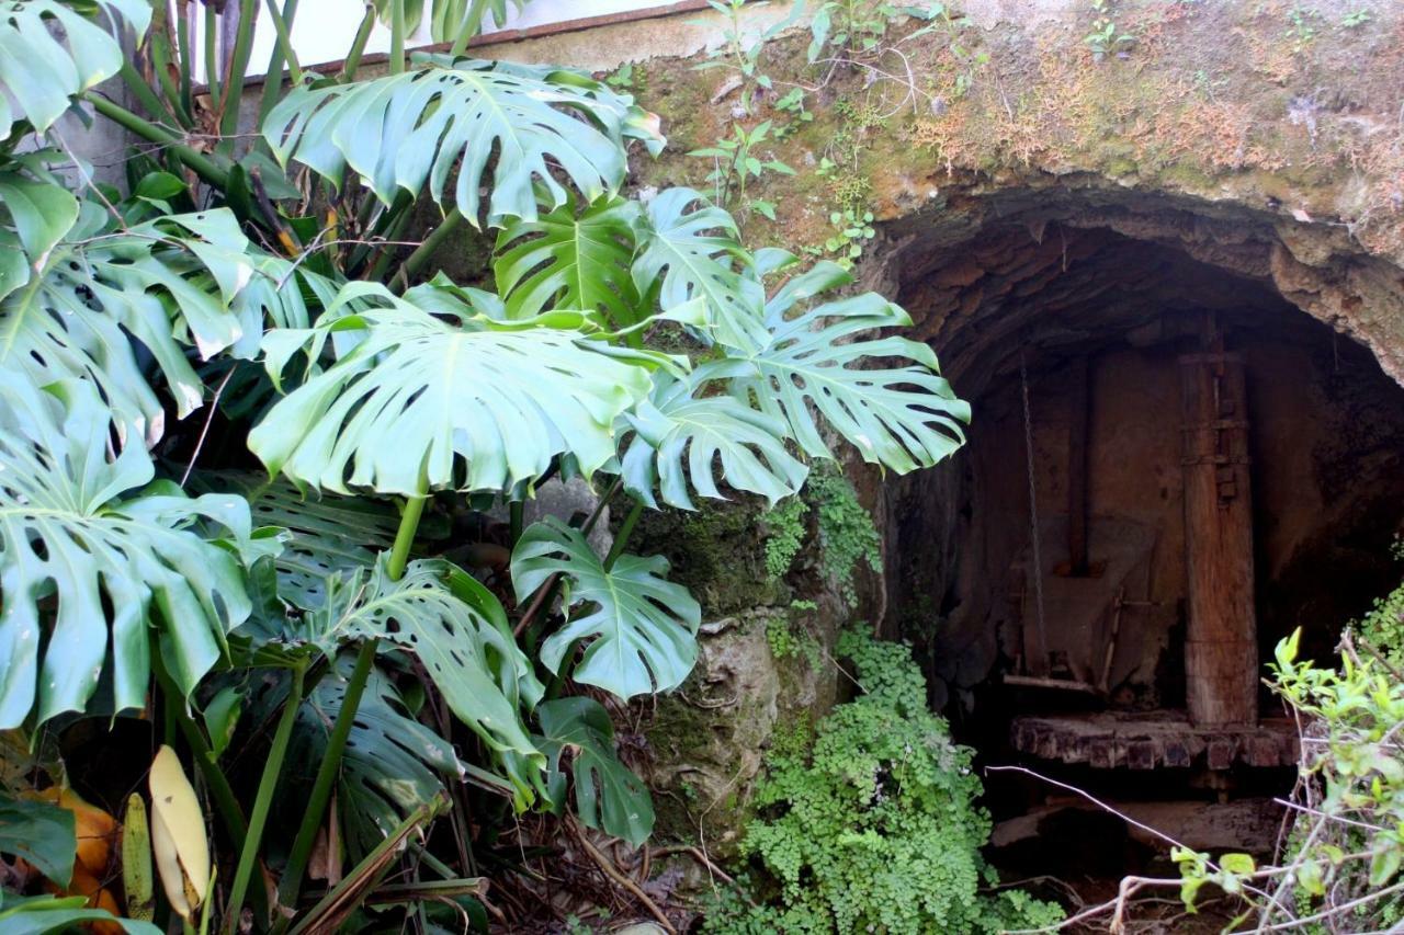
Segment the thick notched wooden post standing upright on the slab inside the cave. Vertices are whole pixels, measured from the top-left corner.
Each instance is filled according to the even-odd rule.
[[[1199,726],[1258,720],[1252,498],[1243,358],[1179,358],[1189,628],[1185,702]]]

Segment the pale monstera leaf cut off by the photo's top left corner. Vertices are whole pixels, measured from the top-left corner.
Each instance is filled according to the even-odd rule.
[[[118,15],[138,35],[152,18],[152,7],[143,0],[81,6],[101,11],[114,31]],[[122,46],[79,7],[58,0],[8,0],[0,8],[0,143],[20,119],[41,133],[49,129],[69,110],[73,95],[122,69]]]

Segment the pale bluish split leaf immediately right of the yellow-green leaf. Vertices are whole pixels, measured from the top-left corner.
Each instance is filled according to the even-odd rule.
[[[639,250],[632,272],[640,295],[656,295],[664,309],[705,299],[713,340],[743,351],[765,345],[765,291],[731,215],[691,188],[668,188],[649,202]]]

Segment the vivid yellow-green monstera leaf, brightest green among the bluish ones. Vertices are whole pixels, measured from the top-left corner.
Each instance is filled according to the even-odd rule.
[[[642,316],[629,277],[639,206],[602,198],[577,211],[574,199],[538,220],[507,225],[493,274],[512,319],[578,309],[601,326],[629,327]]]

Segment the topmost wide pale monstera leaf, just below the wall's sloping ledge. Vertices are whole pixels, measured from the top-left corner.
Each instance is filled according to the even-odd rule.
[[[278,159],[296,160],[341,184],[350,167],[385,202],[425,185],[439,204],[451,171],[463,216],[477,223],[479,191],[491,190],[487,223],[536,218],[536,199],[557,206],[567,177],[594,201],[623,181],[625,138],[660,146],[628,95],[574,72],[416,56],[409,72],[354,84],[303,84],[268,115],[264,135]]]

